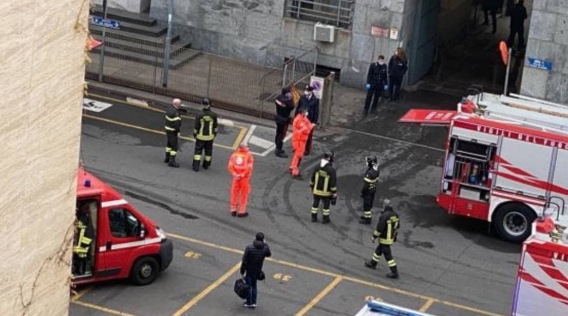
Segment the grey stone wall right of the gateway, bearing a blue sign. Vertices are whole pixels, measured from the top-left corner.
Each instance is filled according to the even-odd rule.
[[[534,0],[521,94],[568,104],[568,1]],[[528,57],[552,62],[531,68]]]

